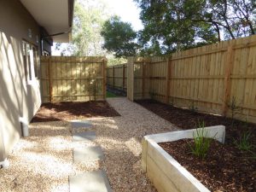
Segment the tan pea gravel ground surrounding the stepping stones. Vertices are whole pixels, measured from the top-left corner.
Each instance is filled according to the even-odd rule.
[[[126,98],[109,98],[108,103],[121,116],[90,118],[96,131],[91,143],[72,143],[67,121],[32,123],[31,136],[20,139],[9,155],[9,168],[0,170],[0,191],[69,191],[68,176],[98,169],[107,172],[113,191],[155,191],[142,172],[141,140],[177,128]],[[81,145],[100,145],[105,159],[73,164],[72,150]]]

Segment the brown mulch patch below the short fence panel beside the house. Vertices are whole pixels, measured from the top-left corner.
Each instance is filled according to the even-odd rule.
[[[44,103],[31,122],[46,122],[92,117],[119,116],[108,102],[55,102]]]

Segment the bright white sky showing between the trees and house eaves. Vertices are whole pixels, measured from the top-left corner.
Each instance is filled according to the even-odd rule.
[[[83,0],[80,0],[83,2]],[[143,23],[139,19],[140,9],[133,0],[85,0],[87,2],[96,4],[102,1],[108,6],[108,9],[112,11],[111,15],[118,15],[121,20],[131,23],[132,28],[135,31],[143,29]],[[61,46],[67,46],[62,44]],[[52,46],[52,55],[61,55],[61,50],[55,50],[55,44]]]

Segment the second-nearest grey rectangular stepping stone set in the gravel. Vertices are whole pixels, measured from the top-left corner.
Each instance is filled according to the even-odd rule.
[[[104,154],[99,146],[73,148],[73,162],[75,163],[103,160],[103,158]]]

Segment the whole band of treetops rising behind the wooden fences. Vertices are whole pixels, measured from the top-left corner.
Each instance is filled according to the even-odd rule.
[[[134,0],[143,30],[109,15],[102,3],[78,0],[69,55],[166,55],[204,44],[255,34],[255,0]],[[61,49],[57,44],[57,49]],[[59,47],[59,48],[58,48]],[[67,55],[67,54],[66,54]],[[116,62],[111,57],[113,64]]]

